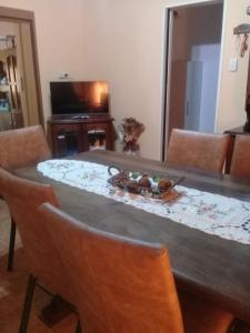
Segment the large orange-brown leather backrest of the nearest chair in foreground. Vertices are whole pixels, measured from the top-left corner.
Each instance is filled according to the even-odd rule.
[[[39,208],[71,273],[83,332],[183,332],[168,252]]]

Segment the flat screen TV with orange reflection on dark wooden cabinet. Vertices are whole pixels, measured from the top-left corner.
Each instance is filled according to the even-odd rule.
[[[106,81],[50,82],[52,114],[91,114],[109,112]]]

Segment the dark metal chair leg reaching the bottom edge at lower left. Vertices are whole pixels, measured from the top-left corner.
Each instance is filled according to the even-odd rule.
[[[33,292],[36,287],[36,281],[37,279],[30,274],[28,285],[27,285],[27,292],[26,292],[26,300],[22,309],[22,317],[21,323],[19,326],[19,333],[26,333],[28,327],[28,322],[30,317],[30,310],[32,305],[33,300]]]

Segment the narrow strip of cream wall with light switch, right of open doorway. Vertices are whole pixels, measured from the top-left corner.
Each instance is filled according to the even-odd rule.
[[[233,28],[240,23],[250,23],[250,16],[246,9],[250,6],[249,0],[228,0],[226,11],[226,34],[222,49],[222,70],[220,83],[220,99],[217,118],[217,131],[242,125],[246,122],[246,91],[249,64],[249,50],[244,58],[239,57],[233,36]],[[239,65],[237,72],[229,72],[230,58],[238,57]]]

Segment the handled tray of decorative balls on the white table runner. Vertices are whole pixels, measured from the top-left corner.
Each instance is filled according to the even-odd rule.
[[[112,174],[112,169],[117,170],[117,174]],[[169,178],[149,176],[137,171],[121,171],[117,167],[109,167],[108,169],[111,178],[109,183],[118,186],[129,193],[139,194],[142,196],[161,199],[166,202],[173,201],[180,196],[173,188],[184,180],[181,176],[176,182]]]

